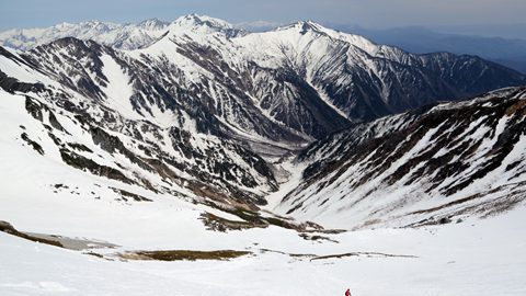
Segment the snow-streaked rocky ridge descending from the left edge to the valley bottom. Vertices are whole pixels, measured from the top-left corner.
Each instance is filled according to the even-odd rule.
[[[26,145],[41,158],[75,168],[73,174],[85,171],[197,201],[241,207],[265,204],[262,196],[277,184],[261,157],[226,137],[203,133],[183,109],[157,110],[156,121],[140,117],[127,100],[128,73],[112,53],[101,52],[94,71],[71,67],[67,76],[60,71],[68,65],[57,61],[56,76],[47,76],[46,68],[32,64],[36,61],[3,52],[1,69],[7,73],[1,72],[0,87],[7,138],[2,151]],[[82,81],[76,71],[93,80]]]

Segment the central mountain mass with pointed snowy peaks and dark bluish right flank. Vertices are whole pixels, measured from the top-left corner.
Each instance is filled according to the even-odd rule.
[[[228,37],[224,32],[231,25],[210,32],[202,29],[195,15],[182,20],[175,23],[185,26],[171,25],[161,41],[138,53],[183,65],[197,84],[214,81],[214,104],[230,110],[237,121],[242,114],[232,106],[251,110],[253,106],[247,105],[251,103],[266,119],[304,137],[319,138],[348,122],[525,80],[518,72],[477,57],[411,55],[312,22]],[[231,118],[225,121],[236,126]],[[268,128],[263,133],[268,134]]]

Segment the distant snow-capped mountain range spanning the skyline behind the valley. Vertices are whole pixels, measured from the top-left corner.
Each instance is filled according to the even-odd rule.
[[[185,36],[186,32],[199,34]],[[209,33],[219,35],[210,38]],[[167,54],[169,46],[161,44],[170,39],[179,47],[178,47],[178,54],[190,59],[195,58],[196,50],[202,52],[201,56],[203,50],[211,50],[207,55],[215,57],[208,61],[209,65],[193,62],[198,68],[216,68],[218,65],[214,64],[221,60],[225,66],[219,69],[206,69],[219,80],[225,79],[219,78],[224,76],[219,72],[227,65],[233,72],[245,75],[253,71],[250,70],[252,66],[239,62],[255,62],[260,75],[253,77],[252,82],[239,83],[232,77],[228,79],[233,79],[235,86],[245,88],[244,93],[256,91],[251,94],[255,98],[263,94],[266,87],[277,83],[283,90],[274,89],[277,91],[275,95],[264,99],[264,105],[260,107],[272,106],[272,111],[267,110],[272,121],[285,123],[295,133],[308,137],[319,137],[341,128],[348,121],[369,121],[434,100],[466,98],[524,81],[524,76],[478,57],[445,53],[412,55],[313,22],[250,34],[225,21],[192,14],[172,23],[152,19],[138,24],[84,22],[48,29],[12,30],[1,33],[0,41],[7,47],[27,50],[69,36],[92,39],[115,49],[148,48],[152,45],[148,50],[159,48],[157,50],[161,55]],[[174,41],[174,37],[178,39]],[[225,41],[218,42],[220,38]],[[231,53],[232,56],[221,53]],[[263,71],[265,76],[273,77],[272,80],[258,81],[263,79]],[[287,83],[294,86],[290,92],[285,91]],[[301,102],[290,100],[298,95],[324,102],[320,105],[324,106],[323,111],[312,105],[317,104],[313,99]],[[283,105],[285,102],[289,105]],[[298,114],[289,113],[290,110],[297,110],[305,116],[300,121]],[[335,115],[331,114],[334,112]]]

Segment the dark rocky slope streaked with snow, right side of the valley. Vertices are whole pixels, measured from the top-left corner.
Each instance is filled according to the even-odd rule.
[[[524,205],[526,89],[357,125],[308,148],[278,205],[342,228],[489,217]]]

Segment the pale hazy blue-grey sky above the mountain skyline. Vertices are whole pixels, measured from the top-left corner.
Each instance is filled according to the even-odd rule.
[[[505,27],[526,23],[526,0],[0,0],[0,30],[65,21],[172,21],[194,12],[231,23],[315,20],[367,27]]]

